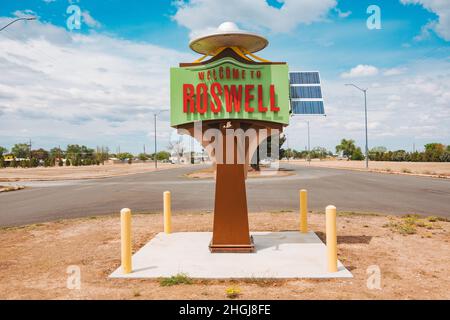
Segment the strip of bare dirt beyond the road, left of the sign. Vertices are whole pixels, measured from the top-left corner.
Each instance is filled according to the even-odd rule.
[[[158,163],[157,170],[172,169],[177,166],[180,165]],[[98,179],[150,171],[155,171],[155,164],[150,161],[147,163],[105,164],[82,167],[3,168],[0,169],[0,181]]]

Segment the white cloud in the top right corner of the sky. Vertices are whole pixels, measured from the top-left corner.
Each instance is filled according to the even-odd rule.
[[[416,40],[423,40],[430,29],[434,30],[445,41],[450,41],[450,1],[448,0],[400,0],[404,5],[422,5],[426,10],[438,16],[437,21],[432,21],[422,28],[421,34]]]

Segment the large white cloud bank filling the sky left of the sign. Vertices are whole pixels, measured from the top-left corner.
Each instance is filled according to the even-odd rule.
[[[0,25],[9,20],[0,18]],[[169,106],[170,67],[192,60],[175,50],[39,21],[15,24],[0,35],[2,144],[31,136],[46,144],[123,140],[140,147],[153,128],[152,112]],[[158,122],[166,135],[168,117],[163,113]]]

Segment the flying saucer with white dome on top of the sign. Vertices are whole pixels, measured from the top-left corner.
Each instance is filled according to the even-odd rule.
[[[269,44],[266,38],[240,30],[233,22],[222,23],[217,31],[193,39],[189,47],[197,53],[214,55],[223,47],[239,47],[250,53],[258,52]]]

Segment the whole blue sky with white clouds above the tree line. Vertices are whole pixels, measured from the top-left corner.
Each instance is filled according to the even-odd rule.
[[[80,8],[73,29],[71,6]],[[380,12],[373,28],[371,9]],[[168,110],[169,69],[198,54],[189,40],[224,21],[266,36],[258,53],[321,73],[326,117],[293,117],[288,145],[330,150],[342,138],[369,148],[450,144],[448,0],[0,0],[0,146],[67,144],[153,150],[153,114]],[[378,20],[377,20],[378,21]],[[157,118],[159,149],[177,139]]]

